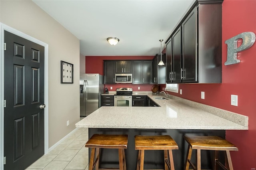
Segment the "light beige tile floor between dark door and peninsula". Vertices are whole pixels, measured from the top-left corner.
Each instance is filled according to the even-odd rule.
[[[88,170],[88,128],[78,128],[26,170]]]

